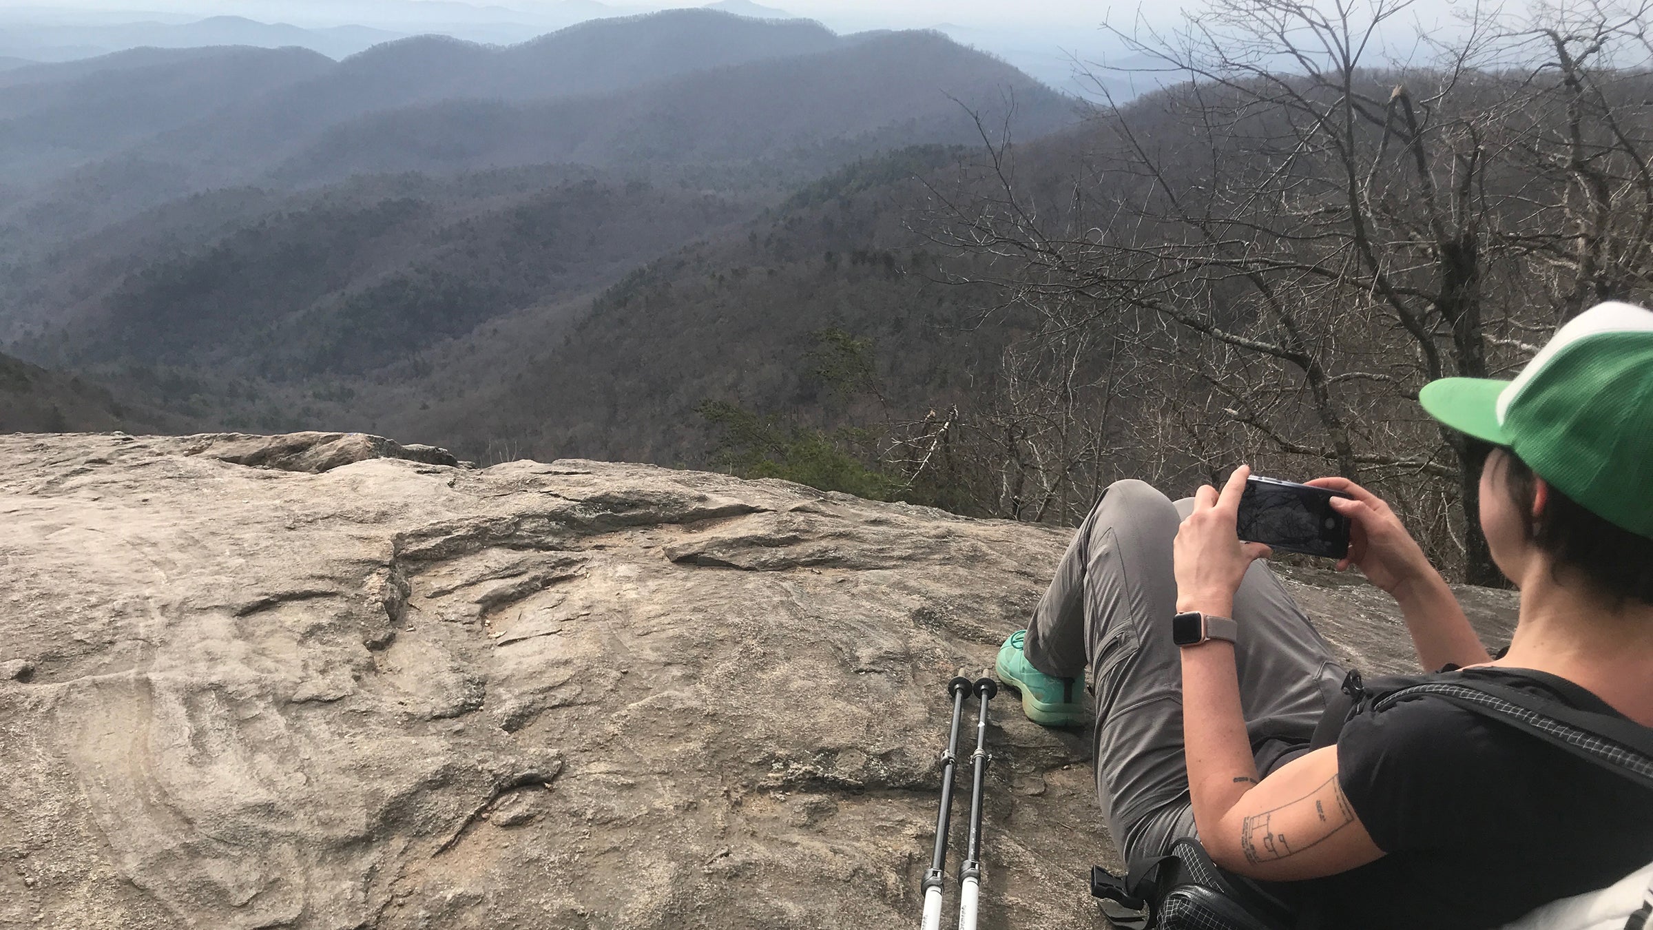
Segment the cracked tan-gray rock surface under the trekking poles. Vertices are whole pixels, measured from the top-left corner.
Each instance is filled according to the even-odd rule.
[[[1071,530],[438,453],[0,437],[0,927],[916,923],[944,683]],[[1380,592],[1288,584],[1410,665]],[[1088,735],[993,717],[982,927],[1106,927]]]

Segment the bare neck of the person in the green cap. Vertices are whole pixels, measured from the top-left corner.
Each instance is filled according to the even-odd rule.
[[[1653,606],[1603,599],[1547,559],[1522,573],[1516,635],[1493,665],[1559,675],[1653,726]]]

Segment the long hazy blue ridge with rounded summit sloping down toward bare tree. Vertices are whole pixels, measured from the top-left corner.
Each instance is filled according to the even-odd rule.
[[[1007,94],[1018,136],[1041,136],[1069,119],[1063,98],[992,56],[939,33],[888,33],[610,96],[446,101],[372,114],[327,131],[274,179],[294,185],[372,172],[780,156],[818,172],[878,149],[975,141],[965,106],[997,126]]]

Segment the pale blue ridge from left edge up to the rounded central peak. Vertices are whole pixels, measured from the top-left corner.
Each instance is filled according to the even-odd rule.
[[[0,189],[0,227],[26,227],[35,237],[74,235],[170,197],[245,184],[301,154],[329,127],[375,111],[458,98],[517,101],[615,91],[843,41],[817,23],[674,10],[582,23],[507,48],[446,36],[407,38],[336,65],[317,61],[309,79],[271,79],[269,89],[245,81],[190,88],[187,78],[174,81],[164,68],[129,66],[137,60],[183,66],[183,60],[203,56],[202,50],[132,50],[53,66],[56,71],[5,71],[0,88],[26,79],[38,89],[20,91],[18,99],[38,96],[46,101],[38,108],[56,109],[36,117],[40,131],[20,122],[0,146],[0,184],[12,185]],[[117,66],[119,76],[91,76]],[[131,119],[111,113],[104,96],[50,89],[45,79],[53,74],[112,81],[124,88],[121,93],[147,99],[134,113],[159,109],[167,119]],[[192,119],[179,126],[172,114]],[[150,137],[126,134],[139,122]],[[76,127],[84,132],[76,134]]]

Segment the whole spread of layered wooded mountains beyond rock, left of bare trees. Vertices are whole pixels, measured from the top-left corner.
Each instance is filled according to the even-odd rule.
[[[0,157],[50,175],[0,199],[13,351],[200,429],[681,462],[706,397],[807,405],[825,326],[911,346],[903,397],[957,367],[929,328],[959,304],[909,273],[912,179],[1073,119],[939,33],[698,10],[342,63],[139,50],[26,68],[0,108]]]

